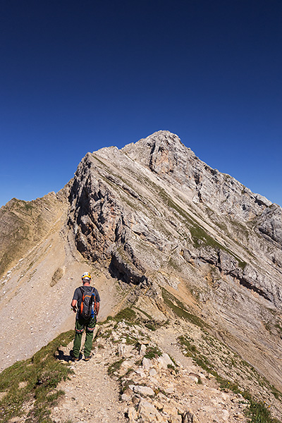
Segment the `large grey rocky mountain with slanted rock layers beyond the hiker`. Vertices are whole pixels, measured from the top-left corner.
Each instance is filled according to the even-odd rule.
[[[204,164],[168,131],[87,153],[63,200],[51,200],[51,213],[40,206],[32,221],[44,211],[47,233],[60,216],[62,259],[51,276],[82,257],[132,288],[128,300],[145,295],[161,310],[165,287],[282,388],[281,207]]]

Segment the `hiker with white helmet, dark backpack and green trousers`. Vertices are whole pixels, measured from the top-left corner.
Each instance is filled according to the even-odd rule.
[[[97,316],[100,307],[100,296],[96,288],[90,286],[91,275],[88,272],[82,274],[83,286],[75,289],[71,308],[76,312],[75,318],[75,338],[73,341],[73,350],[70,351],[73,360],[78,361],[80,355],[80,346],[82,333],[85,329],[84,355],[85,361],[92,357],[92,339],[94,327],[97,323]]]

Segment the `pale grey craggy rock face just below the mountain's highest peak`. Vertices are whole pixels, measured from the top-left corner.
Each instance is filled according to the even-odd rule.
[[[127,145],[123,152],[169,183],[187,190],[193,202],[204,203],[216,212],[249,221],[271,206],[262,195],[253,194],[231,176],[207,166],[168,131]]]

